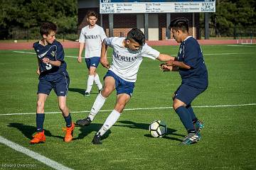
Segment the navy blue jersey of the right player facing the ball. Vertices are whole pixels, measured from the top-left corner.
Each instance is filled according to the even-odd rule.
[[[188,84],[198,89],[207,88],[208,72],[203,60],[201,47],[196,39],[190,36],[181,42],[178,61],[191,67],[191,69],[178,68],[183,84]]]

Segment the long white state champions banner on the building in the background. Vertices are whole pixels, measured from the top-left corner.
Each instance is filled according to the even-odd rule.
[[[215,0],[100,0],[100,13],[215,12]]]

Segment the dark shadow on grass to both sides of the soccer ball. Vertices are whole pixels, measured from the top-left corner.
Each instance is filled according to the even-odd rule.
[[[122,127],[127,127],[127,128],[144,129],[144,130],[147,130],[149,132],[149,124],[146,124],[146,123],[134,123],[134,122],[128,121],[128,120],[118,121],[118,123],[122,123],[122,124],[125,124],[125,125],[114,125],[114,126],[122,126]],[[176,137],[170,137],[170,136],[185,137],[185,135],[180,135],[180,134],[175,133],[176,131],[177,130],[174,130],[174,129],[171,129],[171,128],[167,128],[167,133],[166,133],[166,135],[163,138],[182,142],[182,140],[180,140],[180,139],[178,139]],[[152,137],[149,134],[145,134],[144,136],[145,137]]]

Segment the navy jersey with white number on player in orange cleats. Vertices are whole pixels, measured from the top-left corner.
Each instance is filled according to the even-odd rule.
[[[43,46],[39,44],[38,41],[33,44],[33,48],[36,51],[38,60],[40,61],[39,70],[41,74],[58,74],[66,70],[67,64],[64,61],[64,50],[60,42],[55,40],[53,41],[53,44]],[[60,61],[60,67],[42,62],[44,57],[47,57],[51,61]]]

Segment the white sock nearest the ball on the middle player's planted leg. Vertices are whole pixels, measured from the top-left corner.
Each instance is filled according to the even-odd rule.
[[[100,128],[100,130],[99,130],[101,136],[104,135],[105,132],[107,132],[107,130],[109,130],[112,127],[112,125],[114,125],[114,123],[117,122],[120,115],[121,115],[121,113],[119,113],[116,110],[113,110],[110,113],[110,115],[107,117],[107,120],[102,125],[102,128]],[[99,132],[97,132],[97,134],[99,134]]]

